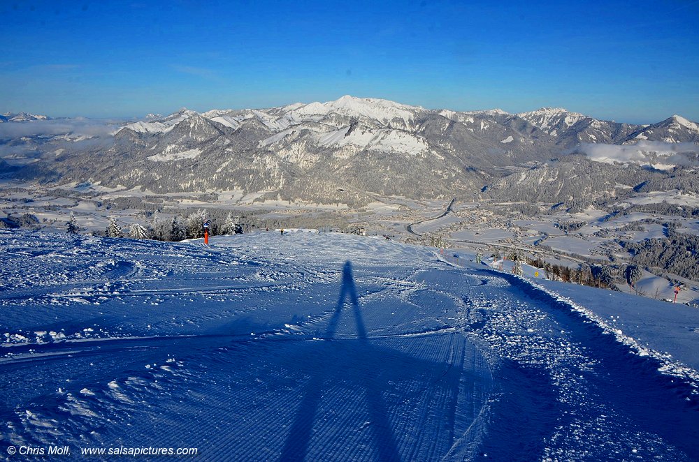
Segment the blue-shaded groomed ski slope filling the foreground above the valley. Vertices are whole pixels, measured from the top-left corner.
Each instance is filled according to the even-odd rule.
[[[610,322],[608,291],[561,297],[429,248],[311,232],[210,244],[0,231],[3,457],[699,460],[696,370],[652,343],[699,335],[696,310],[667,306],[684,310],[671,325],[658,311],[657,336],[643,311],[640,345]],[[633,324],[643,299],[612,298]],[[699,353],[677,338],[658,345]]]

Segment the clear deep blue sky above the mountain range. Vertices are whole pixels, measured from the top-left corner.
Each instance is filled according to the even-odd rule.
[[[699,0],[3,0],[0,50],[0,112],[131,117],[351,94],[699,121]]]

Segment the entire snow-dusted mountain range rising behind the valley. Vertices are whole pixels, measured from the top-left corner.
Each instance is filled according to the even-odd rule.
[[[22,147],[42,154],[26,175],[157,192],[235,189],[264,193],[263,200],[326,203],[361,203],[371,195],[473,195],[491,184],[521,183],[522,174],[528,175],[520,172],[523,167],[550,167],[556,165],[549,162],[552,158],[576,153],[584,154],[572,157],[580,168],[597,161],[598,167],[589,167],[593,170],[601,168],[600,161],[635,169],[661,167],[668,173],[678,165],[699,164],[699,126],[679,116],[640,126],[560,108],[520,114],[457,112],[353,96],[260,110],[199,113],[183,108],[166,117],[149,114],[106,137],[76,138],[73,133],[69,140],[73,142],[53,137],[6,144],[14,143],[15,158]],[[677,143],[684,143],[679,151]],[[600,155],[591,146],[610,149]],[[635,146],[651,154],[630,155]],[[672,155],[658,155],[663,149]],[[638,171],[640,177],[604,175],[605,186],[594,193],[633,188],[654,174],[646,174],[647,168]],[[612,177],[629,181],[619,184]],[[561,191],[575,191],[575,177],[561,178],[572,186],[554,188],[552,200],[568,200],[571,194]]]

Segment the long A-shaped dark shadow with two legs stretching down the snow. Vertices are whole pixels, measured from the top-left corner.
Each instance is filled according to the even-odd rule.
[[[343,368],[347,368],[347,375],[357,373],[358,370],[361,370],[361,377],[363,379],[361,380],[361,385],[363,386],[363,394],[368,407],[368,414],[372,421],[371,429],[379,459],[381,461],[400,461],[398,445],[394,433],[391,430],[387,406],[382,396],[383,387],[380,380],[380,368],[373,367],[371,370],[368,370],[366,364],[360,364],[362,357],[366,355],[375,355],[378,353],[379,356],[383,355],[385,357],[386,353],[375,351],[375,348],[370,345],[366,337],[366,327],[364,326],[361,309],[359,307],[359,297],[357,296],[356,285],[354,284],[354,277],[352,276],[352,263],[349,261],[345,262],[345,266],[343,267],[343,283],[340,289],[340,299],[338,299],[335,312],[325,331],[324,338],[326,340],[333,339],[336,334],[340,315],[345,307],[345,299],[349,299],[352,305],[358,337],[358,340],[348,340],[347,342],[356,343],[353,350],[358,350],[359,355],[356,355],[353,359],[350,358],[349,361],[347,358],[342,358],[340,359],[340,363],[343,364]],[[335,355],[327,357],[327,361],[335,362],[338,360],[338,358],[333,356]],[[340,371],[340,373],[342,372],[343,371]],[[319,373],[321,373],[321,371],[317,371],[317,374]],[[284,443],[284,449],[282,449],[281,461],[302,461],[305,459],[311,440],[315,415],[322,398],[322,391],[324,387],[331,385],[333,384],[329,383],[328,378],[318,375],[312,377],[306,383],[303,388],[303,399],[298,405],[294,424],[291,426],[287,440]]]

